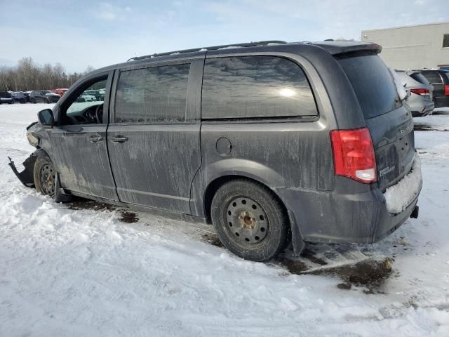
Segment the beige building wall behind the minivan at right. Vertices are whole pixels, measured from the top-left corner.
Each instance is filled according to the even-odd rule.
[[[449,22],[363,30],[361,40],[380,44],[380,57],[394,69],[435,68],[449,65],[449,48],[443,48],[443,34],[449,34]]]

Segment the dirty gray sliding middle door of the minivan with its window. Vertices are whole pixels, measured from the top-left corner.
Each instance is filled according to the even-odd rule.
[[[201,165],[203,59],[122,70],[116,80],[109,160],[120,201],[190,213]]]

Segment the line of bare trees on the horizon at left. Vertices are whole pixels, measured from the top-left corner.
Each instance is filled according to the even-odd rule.
[[[39,65],[32,58],[22,58],[15,67],[0,67],[0,91],[69,88],[83,74],[92,70],[93,67],[89,66],[85,72],[69,74],[59,62],[55,65]]]

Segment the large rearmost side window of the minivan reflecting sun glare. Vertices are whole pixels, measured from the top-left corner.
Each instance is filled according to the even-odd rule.
[[[206,60],[202,119],[316,116],[309,81],[295,62],[276,56]]]

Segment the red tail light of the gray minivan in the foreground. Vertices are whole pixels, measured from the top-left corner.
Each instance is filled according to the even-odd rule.
[[[375,183],[376,159],[368,128],[330,131],[336,176]]]

